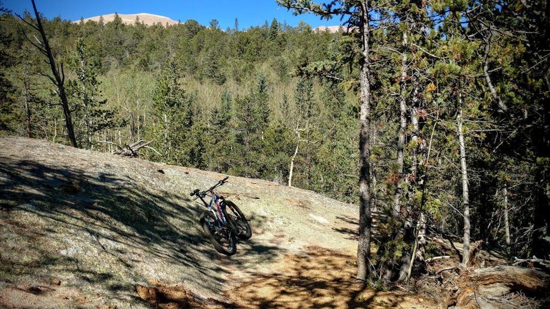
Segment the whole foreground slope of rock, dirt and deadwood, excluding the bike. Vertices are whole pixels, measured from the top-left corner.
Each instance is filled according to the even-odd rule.
[[[236,255],[220,255],[199,226],[203,206],[188,192],[222,178],[0,138],[0,308],[434,308],[432,298],[476,308],[472,280],[493,302],[511,286],[548,300],[547,274],[503,266],[485,250],[475,259],[482,266],[463,272],[458,256],[430,263],[416,293],[373,290],[353,277],[357,207],[259,179],[230,177],[220,187],[253,232]],[[431,241],[445,254],[461,251],[459,243]],[[451,283],[434,281],[434,273]],[[456,286],[461,292],[452,296]],[[509,295],[504,300],[518,306],[544,307]]]

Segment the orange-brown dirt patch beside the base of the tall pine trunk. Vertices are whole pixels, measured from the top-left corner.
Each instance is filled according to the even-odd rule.
[[[353,279],[355,257],[322,247],[285,254],[271,274],[251,274],[226,291],[239,308],[432,308],[421,297],[377,292]]]

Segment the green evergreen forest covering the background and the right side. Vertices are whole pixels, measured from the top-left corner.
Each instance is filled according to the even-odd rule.
[[[459,238],[464,265],[478,241],[550,258],[547,1],[277,2],[342,26],[3,10],[0,134],[143,141],[142,159],[358,205],[360,279],[408,281],[431,235]]]

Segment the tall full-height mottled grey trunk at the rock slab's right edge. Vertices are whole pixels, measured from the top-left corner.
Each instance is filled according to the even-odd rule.
[[[357,251],[357,278],[366,280],[369,275],[371,255],[371,84],[369,1],[361,1],[360,32],[362,35],[362,57],[360,59],[360,174],[359,174],[359,237]]]

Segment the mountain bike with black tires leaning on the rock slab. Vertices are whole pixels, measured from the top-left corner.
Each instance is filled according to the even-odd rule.
[[[207,208],[201,213],[200,222],[204,233],[216,251],[225,255],[234,255],[236,253],[236,238],[250,239],[252,229],[239,207],[214,192],[214,189],[226,183],[228,179],[229,176],[202,192],[195,189],[190,196],[196,196],[193,201],[200,198]],[[209,203],[204,199],[208,194],[210,195]]]

